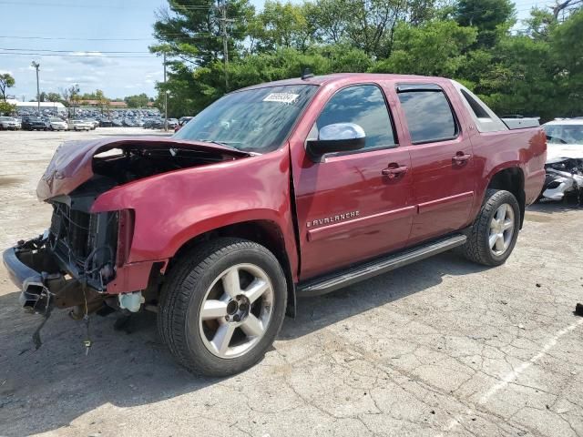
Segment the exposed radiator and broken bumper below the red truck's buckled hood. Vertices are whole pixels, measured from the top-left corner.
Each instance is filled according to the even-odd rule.
[[[131,229],[133,217],[129,210],[90,213],[92,199],[78,193],[51,199],[50,228],[5,251],[6,269],[22,290],[25,309],[72,308],[73,318],[80,319],[103,306],[107,284],[126,259],[125,229]]]

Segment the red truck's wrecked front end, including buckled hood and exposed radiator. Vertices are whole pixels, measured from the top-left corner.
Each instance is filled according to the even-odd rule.
[[[28,310],[72,308],[75,319],[107,303],[140,310],[155,267],[164,259],[132,262],[134,210],[94,210],[97,198],[136,181],[248,157],[228,147],[172,138],[122,138],[66,143],[38,183],[38,198],[53,207],[49,229],[4,252],[12,281]],[[131,189],[131,188],[130,188]]]

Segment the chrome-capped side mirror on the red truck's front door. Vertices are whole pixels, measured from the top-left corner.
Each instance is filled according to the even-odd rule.
[[[359,150],[366,144],[363,127],[354,123],[334,123],[320,129],[318,139],[308,140],[306,150],[312,158],[326,153]]]

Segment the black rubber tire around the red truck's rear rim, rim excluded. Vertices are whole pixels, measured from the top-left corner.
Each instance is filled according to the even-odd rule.
[[[510,205],[514,212],[514,232],[504,253],[496,255],[488,243],[490,223],[496,210],[505,203]],[[465,245],[460,248],[460,252],[465,258],[485,266],[504,264],[517,244],[519,228],[520,207],[517,198],[511,192],[503,189],[488,189],[480,213],[470,229]]]

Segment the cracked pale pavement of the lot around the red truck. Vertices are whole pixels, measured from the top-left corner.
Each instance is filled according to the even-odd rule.
[[[36,181],[66,139],[0,132],[0,247],[46,228]],[[454,254],[299,302],[259,365],[227,379],[179,368],[153,314],[128,332],[54,311],[35,350],[0,268],[0,435],[582,436],[583,210],[529,208],[506,265]]]

